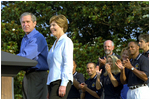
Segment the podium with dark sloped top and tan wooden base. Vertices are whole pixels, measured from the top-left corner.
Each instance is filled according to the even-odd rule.
[[[36,65],[35,60],[1,51],[1,99],[14,99],[13,77],[19,71]]]

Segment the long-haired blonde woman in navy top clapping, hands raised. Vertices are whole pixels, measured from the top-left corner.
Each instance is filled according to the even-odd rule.
[[[116,60],[118,60],[116,56],[108,56],[105,64],[106,72],[102,76],[101,71],[97,73],[96,88],[104,89],[104,99],[120,99],[123,85],[120,82],[120,69],[115,64]]]

